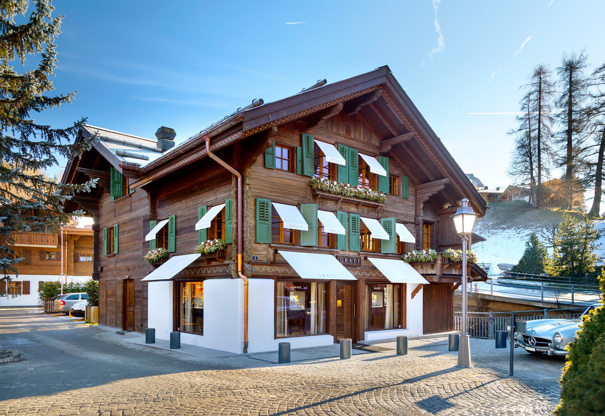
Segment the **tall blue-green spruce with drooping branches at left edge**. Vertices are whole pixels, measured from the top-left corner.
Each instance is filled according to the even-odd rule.
[[[90,149],[95,140],[69,143],[85,119],[67,128],[51,128],[35,122],[31,113],[46,111],[70,103],[75,93],[48,96],[53,91],[53,70],[57,65],[55,38],[60,34],[63,16],[52,16],[50,0],[35,0],[27,22],[28,0],[0,0],[0,279],[16,274],[11,249],[12,234],[30,232],[47,226],[59,227],[72,213],[65,213],[62,203],[76,192],[90,190],[94,181],[85,184],[61,184],[39,172],[56,166],[57,157]],[[25,66],[27,56],[36,57],[38,65],[18,73],[15,61]],[[76,214],[81,214],[76,212]]]

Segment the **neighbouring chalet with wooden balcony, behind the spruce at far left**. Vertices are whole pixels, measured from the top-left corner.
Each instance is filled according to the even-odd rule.
[[[50,229],[15,234],[18,276],[0,281],[0,306],[38,305],[44,282],[86,281],[93,274],[93,230],[77,219],[54,232]]]

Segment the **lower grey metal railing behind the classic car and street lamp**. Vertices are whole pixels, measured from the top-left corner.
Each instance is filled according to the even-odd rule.
[[[471,338],[494,339],[495,331],[506,331],[506,320],[511,319],[576,319],[586,311],[586,307],[567,309],[545,309],[543,311],[511,311],[511,312],[469,312],[467,329]],[[462,329],[462,312],[454,312],[454,331]]]

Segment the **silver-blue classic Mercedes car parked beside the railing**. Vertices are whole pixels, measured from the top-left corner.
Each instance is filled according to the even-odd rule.
[[[525,348],[530,354],[549,356],[566,356],[565,346],[575,339],[575,333],[580,328],[582,316],[586,315],[600,304],[590,305],[576,319],[535,319],[528,320],[525,331],[515,332],[515,348]]]

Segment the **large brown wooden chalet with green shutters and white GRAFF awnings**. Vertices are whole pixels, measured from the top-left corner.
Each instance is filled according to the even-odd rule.
[[[62,180],[99,179],[65,208],[94,216],[100,324],[234,353],[453,330],[460,264],[402,255],[460,248],[451,215],[486,203],[388,67],[254,100],[179,146],[165,127],[92,135]]]

